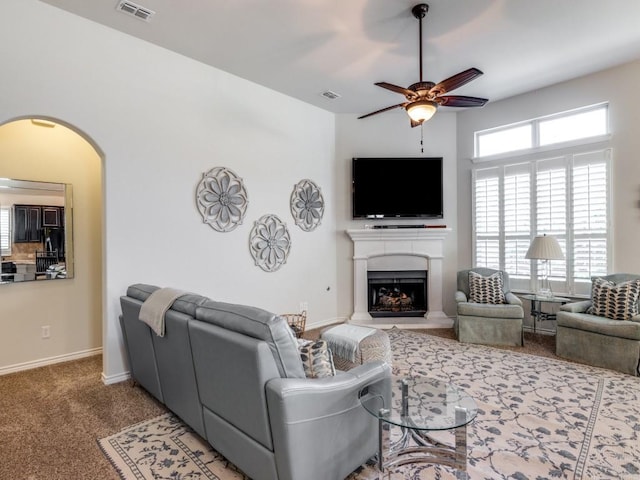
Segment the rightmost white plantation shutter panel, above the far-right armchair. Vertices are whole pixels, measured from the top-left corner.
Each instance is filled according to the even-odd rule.
[[[611,151],[574,155],[573,262],[574,278],[588,281],[607,274],[608,160]]]

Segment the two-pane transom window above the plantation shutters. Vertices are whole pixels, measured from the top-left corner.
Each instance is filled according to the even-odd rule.
[[[476,158],[571,144],[609,133],[609,105],[589,107],[535,118],[475,133]]]

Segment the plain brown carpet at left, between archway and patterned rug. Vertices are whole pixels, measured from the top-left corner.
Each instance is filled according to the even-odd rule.
[[[0,376],[0,479],[117,480],[96,439],[166,409],[95,356]]]

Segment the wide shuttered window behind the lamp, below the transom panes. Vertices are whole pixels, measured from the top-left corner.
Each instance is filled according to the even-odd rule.
[[[607,274],[610,157],[606,148],[474,169],[474,264],[531,290],[537,271],[525,254],[535,235],[553,235],[565,253],[550,262],[553,289],[589,293],[591,276]]]

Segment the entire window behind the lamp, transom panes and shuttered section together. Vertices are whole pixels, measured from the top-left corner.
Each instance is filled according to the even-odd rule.
[[[476,132],[474,265],[535,289],[538,265],[525,255],[536,235],[553,235],[565,260],[550,262],[552,288],[588,294],[610,262],[608,135],[606,103]]]

